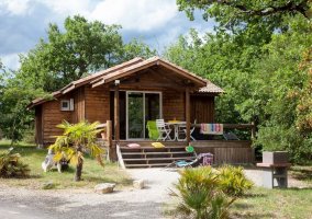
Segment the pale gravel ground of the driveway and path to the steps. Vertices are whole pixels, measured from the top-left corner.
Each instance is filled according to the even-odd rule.
[[[99,195],[92,189],[30,191],[8,187],[0,180],[0,218],[164,218],[163,204],[169,200],[169,187],[178,180],[176,171],[164,169],[127,170],[133,178],[145,180],[144,189],[115,191]],[[247,177],[261,185],[258,170],[246,170]],[[302,187],[296,180],[290,186]]]

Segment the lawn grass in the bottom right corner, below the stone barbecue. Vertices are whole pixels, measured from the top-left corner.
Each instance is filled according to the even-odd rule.
[[[294,165],[289,171],[304,188],[268,189],[254,186],[230,207],[231,219],[310,219],[312,218],[312,165]],[[177,217],[177,199],[164,205],[165,215]]]

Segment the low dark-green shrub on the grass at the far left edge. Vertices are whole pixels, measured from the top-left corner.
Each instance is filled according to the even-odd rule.
[[[26,177],[30,174],[27,164],[20,161],[20,153],[12,153],[13,148],[0,153],[0,177]]]

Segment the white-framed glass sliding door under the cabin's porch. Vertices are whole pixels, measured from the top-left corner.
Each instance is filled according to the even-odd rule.
[[[126,92],[126,139],[148,138],[147,120],[160,118],[160,93]]]

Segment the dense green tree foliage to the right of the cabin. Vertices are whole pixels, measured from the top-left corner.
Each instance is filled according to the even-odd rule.
[[[203,37],[191,31],[165,56],[225,90],[216,97],[218,122],[254,122],[259,130],[255,146],[287,150],[292,161],[302,163],[312,154],[311,135],[307,135],[312,127],[308,53],[304,65],[298,67],[302,54],[311,48],[312,35],[303,16],[286,21],[287,32],[272,33],[269,41],[261,42],[252,28],[239,34],[207,33]]]

